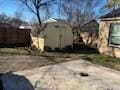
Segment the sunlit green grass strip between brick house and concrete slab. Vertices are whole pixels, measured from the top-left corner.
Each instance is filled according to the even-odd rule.
[[[120,59],[102,54],[88,54],[84,59],[108,68],[120,70]]]

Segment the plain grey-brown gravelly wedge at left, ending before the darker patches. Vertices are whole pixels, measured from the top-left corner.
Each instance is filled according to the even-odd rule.
[[[48,64],[54,64],[54,62],[40,56],[30,55],[12,55],[12,56],[0,56],[0,72],[13,72],[21,71],[24,69],[32,69]]]

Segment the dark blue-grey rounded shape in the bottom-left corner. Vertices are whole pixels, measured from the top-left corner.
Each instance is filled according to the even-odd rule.
[[[34,87],[24,76],[6,73],[0,75],[0,90],[34,90]]]

